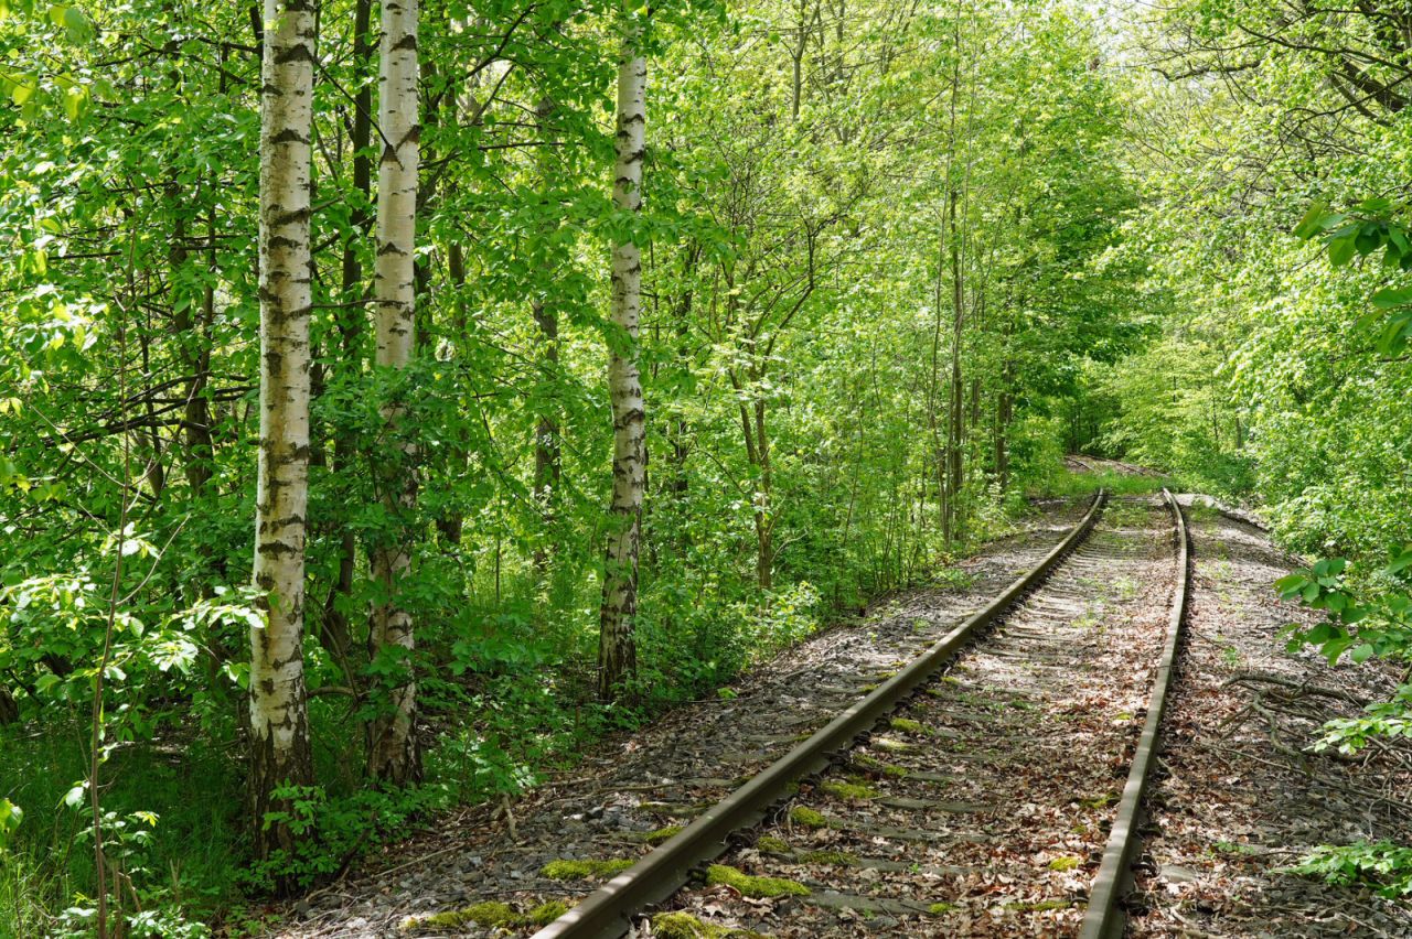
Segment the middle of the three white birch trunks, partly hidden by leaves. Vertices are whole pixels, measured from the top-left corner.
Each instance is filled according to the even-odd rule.
[[[405,368],[415,341],[415,247],[417,247],[417,172],[421,161],[418,138],[418,0],[383,0],[383,35],[378,45],[378,127],[383,133],[383,158],[377,168],[377,364]],[[401,413],[384,412],[395,427]],[[400,471],[383,477],[383,501],[391,517],[412,513],[417,479],[412,471],[415,453],[405,453]],[[388,598],[373,608],[369,642],[373,654],[395,651],[411,667],[414,649],[412,618],[397,606],[397,591],[411,568],[405,524],[394,524],[373,553],[373,577]],[[385,651],[383,654],[387,654]],[[377,778],[397,784],[415,781],[421,774],[417,747],[417,682],[408,680],[391,688],[387,713],[369,725],[367,768]]]

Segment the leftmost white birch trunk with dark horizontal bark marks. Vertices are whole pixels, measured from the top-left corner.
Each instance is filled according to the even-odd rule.
[[[309,482],[309,140],[313,6],[265,0],[260,92],[260,450],[254,584],[264,622],[250,630],[250,792],[258,857],[292,850],[289,808],[274,792],[308,785],[304,689],[304,529]],[[284,884],[289,887],[289,884]]]

